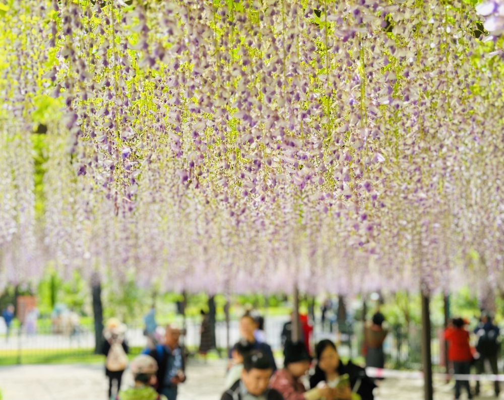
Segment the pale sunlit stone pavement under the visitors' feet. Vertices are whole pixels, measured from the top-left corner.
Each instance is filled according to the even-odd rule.
[[[178,400],[219,400],[224,382],[225,361],[191,361],[187,382],[180,386]],[[124,385],[131,384],[129,372]],[[452,384],[435,382],[435,400],[453,399]],[[4,400],[106,400],[107,381],[103,366],[83,365],[23,365],[0,367],[0,388]],[[493,398],[488,383],[485,396]],[[376,400],[421,400],[421,380],[387,379],[375,391]],[[462,399],[465,399],[465,394]],[[504,397],[503,397],[504,398]]]

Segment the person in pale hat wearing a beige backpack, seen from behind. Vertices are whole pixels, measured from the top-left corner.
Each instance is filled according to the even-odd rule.
[[[124,370],[128,367],[128,343],[125,338],[126,326],[117,318],[110,318],[103,330],[102,354],[105,358],[105,375],[108,377],[108,398],[112,397],[112,388],[115,382],[114,396],[121,389],[121,379]]]

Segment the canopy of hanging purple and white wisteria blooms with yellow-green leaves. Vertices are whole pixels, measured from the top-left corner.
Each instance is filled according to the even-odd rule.
[[[500,289],[504,70],[473,2],[0,13],[2,284]]]

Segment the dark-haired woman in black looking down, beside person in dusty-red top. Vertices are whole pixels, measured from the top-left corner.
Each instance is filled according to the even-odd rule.
[[[339,378],[348,374],[349,383],[338,385],[333,389],[335,400],[373,400],[373,389],[376,385],[361,368],[351,361],[343,364],[335,344],[330,340],[322,340],[315,348],[317,365],[310,377],[310,387],[317,387],[321,382],[330,387],[336,386]]]

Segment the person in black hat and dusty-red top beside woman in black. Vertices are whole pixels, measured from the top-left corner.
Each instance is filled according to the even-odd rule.
[[[277,370],[270,381],[270,387],[276,389],[284,400],[333,400],[333,390],[321,384],[306,391],[301,378],[308,372],[311,358],[302,341],[285,342],[284,368]]]

